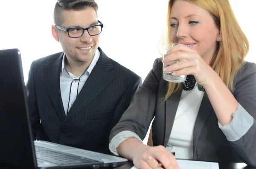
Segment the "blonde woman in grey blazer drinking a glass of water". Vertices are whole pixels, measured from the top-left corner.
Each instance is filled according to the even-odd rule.
[[[141,169],[178,168],[175,158],[256,166],[256,65],[228,0],[169,0],[165,43],[109,148]],[[181,60],[162,69],[163,63]],[[162,73],[187,75],[184,83]],[[196,82],[196,83],[193,83]],[[142,143],[151,120],[153,146]],[[175,152],[175,156],[170,152]]]

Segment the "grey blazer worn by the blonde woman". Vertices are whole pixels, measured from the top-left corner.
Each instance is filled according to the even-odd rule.
[[[141,139],[151,120],[153,146],[167,146],[181,92],[163,98],[167,82],[162,78],[162,61],[154,61],[153,69],[135,94],[119,123],[112,129],[110,140],[122,131],[136,133]],[[193,159],[215,162],[241,162],[256,166],[256,64],[246,62],[234,79],[233,95],[253,117],[253,125],[239,140],[228,141],[218,126],[218,119],[207,93],[201,102],[193,131]]]

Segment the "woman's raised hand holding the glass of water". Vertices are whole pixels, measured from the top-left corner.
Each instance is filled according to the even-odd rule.
[[[206,86],[212,82],[213,76],[218,76],[197,51],[186,45],[174,46],[167,54],[168,56],[163,60],[163,63],[168,65],[175,60],[180,60],[180,62],[169,65],[163,70],[164,72],[176,71],[172,73],[174,76],[192,74],[201,86]]]

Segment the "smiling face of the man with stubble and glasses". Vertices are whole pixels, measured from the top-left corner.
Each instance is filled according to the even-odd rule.
[[[80,11],[64,10],[61,14],[64,22],[60,26],[65,28],[86,28],[98,24],[97,14],[93,8],[87,8]],[[54,32],[57,36],[54,36]],[[57,29],[53,26],[52,35],[55,40],[61,43],[67,59],[76,63],[90,63],[99,46],[99,34],[90,36],[87,31],[84,31],[82,37],[72,38],[68,36],[66,31]]]

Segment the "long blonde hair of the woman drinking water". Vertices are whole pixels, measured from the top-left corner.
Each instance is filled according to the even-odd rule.
[[[236,72],[244,64],[244,58],[249,51],[249,42],[241,30],[228,0],[186,0],[189,3],[207,10],[220,29],[221,42],[216,42],[215,54],[210,66],[221,77],[226,86],[233,91],[233,80]],[[161,46],[170,43],[170,17],[175,0],[169,0],[167,13],[167,29],[161,38]],[[167,100],[173,93],[181,90],[181,83],[168,83]]]

